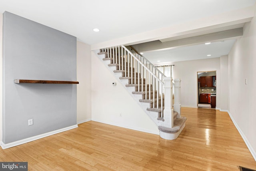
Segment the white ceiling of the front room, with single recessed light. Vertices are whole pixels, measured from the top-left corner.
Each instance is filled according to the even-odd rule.
[[[0,0],[8,11],[87,44],[237,10],[256,0]],[[100,32],[92,29],[99,28]]]

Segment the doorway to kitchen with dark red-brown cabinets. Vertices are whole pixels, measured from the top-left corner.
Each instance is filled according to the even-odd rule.
[[[216,108],[216,71],[197,72],[198,107]]]

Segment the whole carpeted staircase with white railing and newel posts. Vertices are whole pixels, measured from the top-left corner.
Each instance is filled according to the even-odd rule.
[[[160,137],[176,139],[186,121],[180,115],[180,80],[174,80],[172,107],[172,78],[164,76],[146,58],[132,54],[125,46],[101,49],[98,57],[158,125]]]

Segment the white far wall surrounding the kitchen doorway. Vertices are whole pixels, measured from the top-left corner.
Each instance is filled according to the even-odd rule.
[[[182,106],[197,107],[197,72],[216,71],[216,108],[220,107],[220,58],[173,62],[174,78],[180,78]]]

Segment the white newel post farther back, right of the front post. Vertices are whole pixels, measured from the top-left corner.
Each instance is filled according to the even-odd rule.
[[[180,118],[180,107],[181,107],[181,103],[180,103],[180,82],[181,80],[176,78],[174,79],[174,111],[178,112],[177,118]]]

